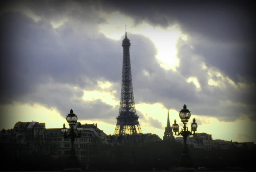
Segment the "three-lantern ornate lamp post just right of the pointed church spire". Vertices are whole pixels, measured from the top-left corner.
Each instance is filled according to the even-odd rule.
[[[187,109],[187,106],[184,104],[183,109],[179,111],[179,118],[181,119],[181,122],[184,124],[183,128],[179,132],[179,125],[176,123],[176,119],[174,120],[174,124],[172,126],[172,129],[175,132],[176,136],[183,136],[184,147],[183,147],[183,154],[182,154],[181,160],[179,161],[179,165],[184,167],[189,167],[192,165],[192,161],[190,159],[188,148],[187,148],[187,137],[194,135],[198,127],[196,123],[196,119],[194,118],[191,124],[191,131],[188,130],[188,127],[186,127],[186,124],[188,123],[190,116],[191,116],[191,113]]]

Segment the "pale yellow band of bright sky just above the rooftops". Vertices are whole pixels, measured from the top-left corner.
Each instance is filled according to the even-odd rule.
[[[63,123],[68,126],[68,123],[64,117],[62,117],[58,111],[55,109],[47,109],[44,106],[39,104],[20,104],[14,103],[13,105],[1,105],[0,107],[4,114],[8,114],[6,120],[1,120],[1,128],[11,129],[14,124],[18,121],[28,122],[28,121],[37,121],[45,122],[46,128],[62,128]],[[163,123],[162,129],[156,129],[148,126],[144,120],[140,120],[140,125],[143,133],[152,133],[157,134],[160,138],[163,137],[164,127],[167,124],[167,109],[159,104],[136,104],[136,109],[143,113],[146,117],[152,117],[159,119]],[[67,112],[68,114],[68,112]],[[78,120],[79,120],[79,114]],[[171,109],[169,110],[170,123],[174,123],[174,119],[177,120],[180,128],[182,123],[178,116],[178,112]],[[52,120],[54,118],[54,120]],[[223,139],[223,140],[233,140],[233,141],[254,141],[256,142],[256,137],[253,135],[252,131],[256,130],[256,122],[250,121],[248,118],[238,119],[234,122],[220,122],[216,118],[197,116],[195,114],[191,115],[189,121],[196,118],[196,122],[200,121],[201,124],[198,125],[198,133],[205,132],[212,134],[214,139]],[[101,130],[104,130],[106,134],[113,134],[115,129],[115,124],[108,124],[99,119],[87,119],[79,120],[82,124],[85,123],[98,123],[98,127]],[[242,130],[241,130],[242,128]],[[243,137],[244,135],[244,137]],[[176,137],[176,136],[175,136]]]

